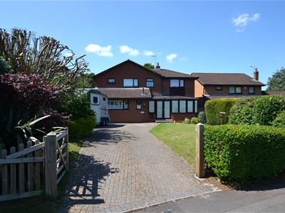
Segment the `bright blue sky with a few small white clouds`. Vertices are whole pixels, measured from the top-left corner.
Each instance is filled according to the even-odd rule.
[[[285,1],[0,1],[0,27],[49,35],[98,73],[130,59],[180,72],[285,67]],[[88,50],[88,51],[87,51]],[[152,52],[152,53],[151,53]],[[168,57],[167,57],[168,56]]]

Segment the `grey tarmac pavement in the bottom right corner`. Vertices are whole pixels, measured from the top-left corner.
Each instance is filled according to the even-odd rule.
[[[136,211],[145,212],[285,212],[285,183],[259,189],[231,190],[165,202]]]

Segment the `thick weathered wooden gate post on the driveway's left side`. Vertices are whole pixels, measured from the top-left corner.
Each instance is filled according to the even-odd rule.
[[[56,174],[56,133],[48,133],[43,137],[45,142],[45,176],[46,176],[46,196],[56,198],[57,196],[57,174]]]

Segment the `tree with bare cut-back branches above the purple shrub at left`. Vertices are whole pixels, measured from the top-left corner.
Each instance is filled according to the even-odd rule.
[[[18,28],[11,32],[0,29],[0,57],[12,72],[38,75],[61,90],[73,89],[76,77],[88,71],[84,56],[76,58],[68,46],[48,36],[37,37]]]

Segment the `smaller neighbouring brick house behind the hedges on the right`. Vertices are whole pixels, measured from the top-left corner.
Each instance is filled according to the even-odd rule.
[[[252,97],[262,95],[259,71],[254,70],[254,77],[244,73],[206,73],[193,72],[195,80],[195,97],[199,99],[199,108],[209,99],[227,97]]]

